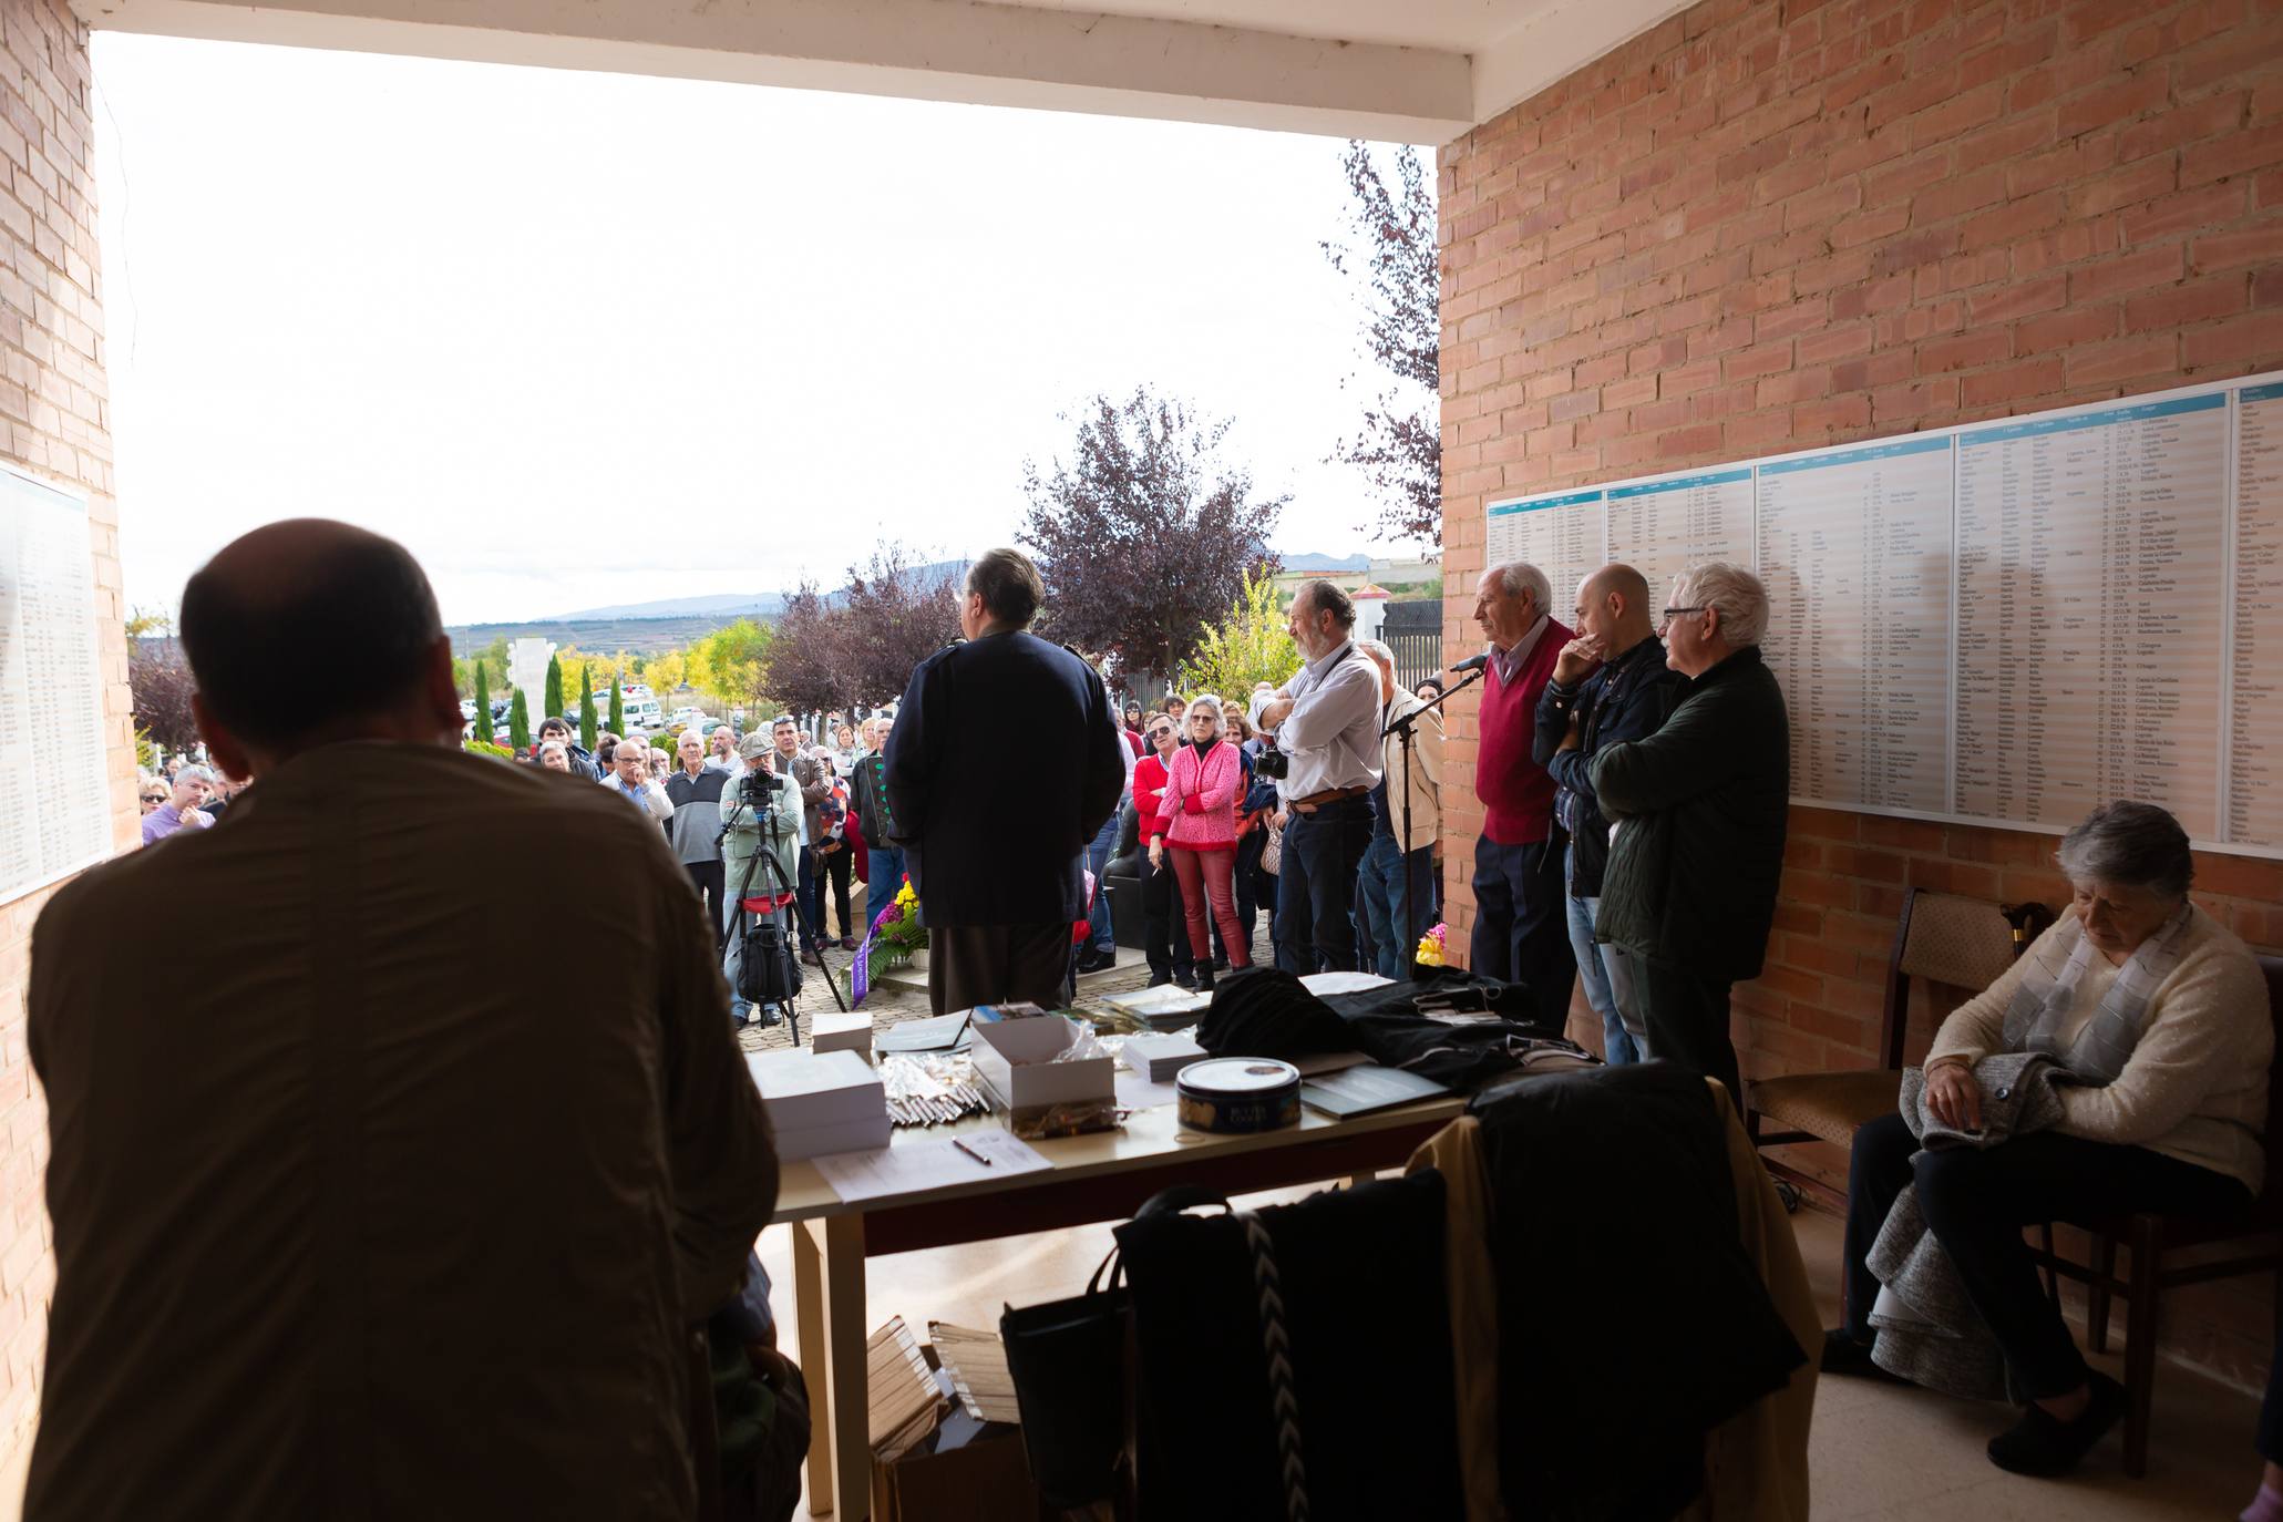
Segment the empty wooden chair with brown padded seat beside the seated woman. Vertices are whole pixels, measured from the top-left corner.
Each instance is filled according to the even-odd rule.
[[[1902,1045],[1911,1025],[1911,979],[1982,993],[2052,924],[2043,904],[2000,906],[1954,892],[1913,888],[1902,899],[1895,952],[1888,958],[1886,1013],[1879,1018],[1879,1068],[1794,1072],[1749,1084],[1744,1132],[1756,1148],[1829,1141],[1852,1148],[1856,1127],[1895,1114],[1902,1091]],[[1767,1125],[1778,1130],[1765,1130]],[[1847,1191],[1790,1164],[1762,1159],[1778,1184],[1806,1189],[1847,1209]]]

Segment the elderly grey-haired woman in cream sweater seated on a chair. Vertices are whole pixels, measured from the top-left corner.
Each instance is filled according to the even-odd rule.
[[[2189,904],[2194,858],[2169,812],[2103,805],[2062,840],[2059,865],[2073,913],[1943,1022],[1922,1088],[1904,1084],[1913,1114],[1856,1132],[1847,1323],[1824,1337],[1822,1358],[1826,1374],[1883,1376],[1886,1351],[1872,1362],[1872,1344],[1893,1321],[1883,1308],[1872,1321],[1881,1280],[1870,1260],[1893,1262],[1879,1234],[1909,1184],[1954,1287],[1979,1314],[1973,1335],[1986,1328],[2004,1385],[2030,1401],[1988,1444],[1991,1463],[2018,1474],[2066,1472],[2123,1415],[2123,1387],[2087,1369],[2041,1292],[2023,1228],[2137,1209],[2228,1216],[2251,1205],[2274,1052],[2258,961]],[[2052,1068],[2023,1068],[2018,1054]],[[2023,1077],[1998,1086],[1988,1077],[1998,1068]],[[2050,1077],[2050,1095],[2041,1120],[2025,1120],[2036,1072]],[[2004,1134],[2004,1102],[2036,1130]],[[1922,1127],[1952,1132],[1957,1145],[1920,1150]]]

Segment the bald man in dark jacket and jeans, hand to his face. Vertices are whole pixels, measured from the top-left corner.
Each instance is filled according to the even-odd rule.
[[[1578,637],[1555,657],[1530,746],[1555,778],[1555,833],[1568,851],[1562,883],[1571,949],[1587,1004],[1600,1015],[1600,1052],[1610,1063],[1646,1061],[1651,1052],[1625,954],[1594,945],[1610,819],[1594,796],[1591,760],[1603,746],[1655,735],[1687,689],[1664,664],[1660,609],[1648,602],[1648,580],[1632,566],[1603,566],[1578,584]]]

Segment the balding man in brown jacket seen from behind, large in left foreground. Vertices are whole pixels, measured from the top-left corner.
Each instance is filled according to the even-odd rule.
[[[57,1282],[23,1515],[694,1515],[689,1328],[776,1157],[689,879],[594,783],[459,748],[402,545],[258,529],[180,628],[199,732],[260,787],[32,933]],[[231,913],[121,956],[183,904]]]

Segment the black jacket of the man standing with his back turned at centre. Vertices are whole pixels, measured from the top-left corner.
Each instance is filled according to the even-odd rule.
[[[1094,666],[1021,630],[936,650],[888,730],[895,844],[927,922],[1071,924],[1126,762]]]

